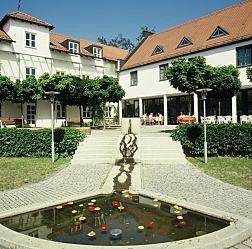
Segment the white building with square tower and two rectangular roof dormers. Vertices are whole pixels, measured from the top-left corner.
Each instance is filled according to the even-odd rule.
[[[127,51],[83,39],[52,33],[54,27],[22,12],[6,15],[0,21],[0,74],[13,81],[29,75],[36,78],[43,73],[72,74],[80,77],[118,76],[119,61]],[[111,107],[108,107],[111,108]],[[57,105],[56,126],[65,118],[79,118],[78,107]],[[108,109],[110,118],[115,115]],[[91,113],[86,107],[84,118]],[[0,103],[0,117],[21,118],[19,104]],[[24,105],[27,126],[49,127],[49,101]]]

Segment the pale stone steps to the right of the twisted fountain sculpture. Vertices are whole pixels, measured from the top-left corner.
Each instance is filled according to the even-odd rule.
[[[143,130],[139,140],[140,159],[143,164],[186,163],[180,142],[173,141],[169,132]]]

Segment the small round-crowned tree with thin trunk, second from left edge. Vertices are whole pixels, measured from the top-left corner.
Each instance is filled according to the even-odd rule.
[[[22,127],[24,124],[23,104],[36,102],[38,99],[41,99],[42,94],[42,88],[34,76],[30,76],[23,81],[16,81],[11,101],[21,105]]]

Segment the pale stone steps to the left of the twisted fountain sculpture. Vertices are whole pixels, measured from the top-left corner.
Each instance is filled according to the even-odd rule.
[[[92,130],[92,135],[81,142],[71,163],[114,164],[118,153],[119,130]]]

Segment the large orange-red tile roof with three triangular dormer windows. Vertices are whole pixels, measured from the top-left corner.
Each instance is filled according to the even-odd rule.
[[[218,26],[225,30],[228,35],[209,39]],[[183,37],[187,37],[193,44],[178,48]],[[122,70],[251,38],[252,0],[247,0],[208,16],[149,36],[138,49],[128,56]],[[164,52],[152,55],[157,45],[164,48]]]

